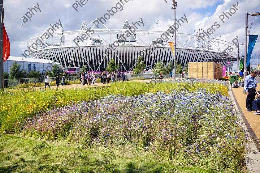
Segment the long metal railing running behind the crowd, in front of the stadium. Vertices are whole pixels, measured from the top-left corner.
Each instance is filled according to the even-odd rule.
[[[176,78],[181,78],[181,74],[176,74]],[[157,78],[154,74],[126,74],[125,80],[145,80]],[[163,74],[163,78],[171,78],[170,74]],[[172,77],[173,78],[173,77]],[[184,78],[188,78],[188,74],[184,74]],[[97,75],[97,82],[100,82],[100,74]],[[62,77],[60,77],[62,81]],[[66,77],[65,85],[80,84],[78,76]],[[50,78],[50,86],[56,85],[55,77]],[[60,83],[61,85],[61,83]],[[4,88],[24,88],[24,87],[37,87],[45,86],[44,78],[22,78],[22,79],[4,79]]]

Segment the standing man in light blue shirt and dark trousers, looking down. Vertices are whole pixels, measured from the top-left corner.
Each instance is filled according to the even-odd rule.
[[[252,71],[251,74],[245,77],[245,93],[246,93],[246,108],[248,112],[253,110],[253,100],[255,98],[255,88],[256,88],[256,80],[255,77],[257,75],[257,71]]]

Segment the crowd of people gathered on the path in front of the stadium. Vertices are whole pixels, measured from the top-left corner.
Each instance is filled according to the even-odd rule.
[[[81,86],[87,84],[87,85],[95,85],[95,83],[97,82],[97,73],[87,73],[84,72],[82,74],[80,74],[79,78],[81,81]],[[126,75],[124,74],[124,72],[118,72],[116,73],[115,71],[113,73],[111,72],[105,72],[102,71],[100,73],[100,78],[101,78],[101,83],[113,83],[113,82],[120,82],[126,79]]]

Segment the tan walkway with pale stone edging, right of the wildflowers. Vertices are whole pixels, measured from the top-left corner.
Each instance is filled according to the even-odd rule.
[[[246,166],[252,173],[260,173],[260,115],[255,115],[253,112],[247,112],[246,109],[246,94],[243,93],[243,87],[231,88],[229,95],[235,102],[235,108],[239,111],[239,119],[246,136],[249,139],[249,144],[246,146],[248,153],[246,154]],[[260,91],[260,86],[257,87]]]

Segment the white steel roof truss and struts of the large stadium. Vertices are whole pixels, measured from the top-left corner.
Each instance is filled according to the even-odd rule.
[[[97,19],[95,19],[94,21],[96,21]],[[50,37],[49,39],[43,38],[44,40],[43,45],[35,49],[34,52],[45,50],[49,52],[48,57],[50,57],[50,49],[55,49],[55,48],[72,49],[73,50],[72,55],[68,55],[68,56],[71,57],[69,62],[74,64],[75,62],[73,60],[73,57],[75,58],[75,54],[79,51],[80,47],[88,47],[88,46],[107,47],[109,45],[116,47],[116,46],[124,45],[124,46],[146,47],[149,49],[151,45],[156,45],[156,47],[170,48],[167,42],[173,42],[174,30],[172,24],[168,24],[168,27],[165,28],[163,27],[162,23],[159,20],[157,20],[156,23],[149,30],[135,28],[135,31],[130,30],[131,29],[130,27],[133,28],[134,26],[131,26],[128,20],[125,21],[122,29],[109,29],[106,27],[104,23],[102,23],[102,21],[100,21],[101,24],[99,28],[97,28],[93,22],[87,25],[86,21],[84,21],[80,27],[80,30],[66,31],[66,32],[64,31],[64,29],[57,30],[56,32],[54,32],[53,37]],[[39,36],[33,37],[32,39],[28,40],[27,44],[31,46],[33,43],[36,43],[38,39],[41,39],[40,37],[44,35],[44,33],[48,30],[48,28],[44,32],[42,32]],[[191,50],[194,49],[194,50],[200,50],[202,52],[214,52],[214,53],[219,53],[219,55],[225,54],[226,57],[234,57],[234,55],[236,54],[237,47],[231,41],[225,38],[217,39],[215,37],[206,37],[206,36],[202,38],[201,36],[199,36],[200,33],[201,30],[195,31],[195,34],[176,32],[176,48],[191,49]],[[227,49],[228,47],[232,48],[233,50]],[[111,51],[112,50],[114,52],[116,51],[116,49],[115,50],[111,49]],[[108,61],[105,60],[105,58],[107,57],[106,56],[107,53],[108,52],[105,53],[101,61],[98,60],[99,61],[98,70],[100,70],[100,66],[103,63],[105,63],[105,61],[106,62]],[[80,52],[80,54],[82,57],[85,58],[85,62],[87,63],[86,65],[89,65],[91,70],[97,70],[91,67],[91,63],[93,63],[94,60],[90,60],[89,58],[87,58],[85,53]],[[146,55],[148,56],[148,54]],[[118,63],[123,63],[121,58],[118,57],[117,53],[115,53],[115,56],[118,59]],[[183,54],[180,54],[180,56],[183,56]],[[152,59],[152,61],[154,61],[152,64],[158,61],[158,59],[154,58],[154,55],[152,53],[150,54],[150,58]],[[184,61],[183,63],[185,64],[186,60],[184,58],[181,59],[182,59],[181,61]],[[57,57],[57,61],[58,61],[58,57]],[[173,62],[173,59],[171,58],[168,61]],[[133,67],[131,68],[131,70],[133,69]],[[148,67],[147,69],[149,68],[150,67]]]

